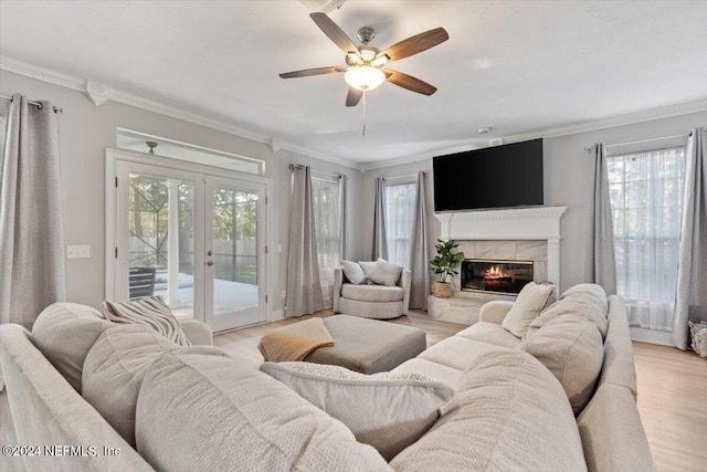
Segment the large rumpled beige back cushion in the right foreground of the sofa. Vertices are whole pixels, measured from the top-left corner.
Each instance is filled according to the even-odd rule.
[[[557,379],[532,356],[479,356],[441,418],[390,465],[404,471],[583,471],[577,423]]]

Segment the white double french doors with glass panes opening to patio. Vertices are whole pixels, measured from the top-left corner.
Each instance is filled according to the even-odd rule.
[[[266,321],[266,183],[180,167],[115,160],[113,297],[162,295],[214,332]]]

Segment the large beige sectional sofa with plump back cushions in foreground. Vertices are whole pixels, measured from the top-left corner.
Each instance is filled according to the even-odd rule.
[[[409,401],[407,381],[451,395],[429,430],[387,459],[328,413],[356,405],[354,413],[366,415],[355,388],[319,409],[210,346],[208,328],[193,322],[184,332],[201,346],[180,347],[144,327],[112,325],[89,307],[55,304],[33,333],[0,326],[0,366],[18,444],[74,448],[61,457],[23,450],[28,470],[651,471],[625,310],[600,290],[566,292],[525,339],[504,331],[511,305],[495,302],[479,323],[391,374],[361,380],[339,373],[331,384],[358,382],[373,399],[379,380],[402,391],[387,405],[393,413]],[[578,342],[597,336],[599,352]],[[599,369],[580,366],[582,357],[595,366],[597,356]],[[594,378],[578,369],[595,370]]]

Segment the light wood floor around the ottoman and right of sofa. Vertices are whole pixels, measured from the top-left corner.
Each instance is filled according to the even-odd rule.
[[[331,311],[316,316],[331,316]],[[251,326],[217,335],[222,349],[263,361],[257,350],[268,331],[307,319],[303,316]],[[465,326],[430,319],[425,312],[413,311],[390,323],[424,329],[428,347],[455,335]],[[659,472],[707,471],[707,360],[693,352],[646,343],[633,343],[639,387],[639,411]]]

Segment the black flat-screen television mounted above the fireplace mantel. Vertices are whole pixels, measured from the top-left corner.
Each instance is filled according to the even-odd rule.
[[[435,156],[434,211],[542,204],[542,139]]]

